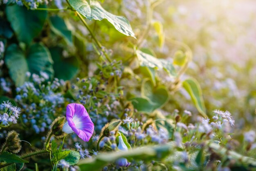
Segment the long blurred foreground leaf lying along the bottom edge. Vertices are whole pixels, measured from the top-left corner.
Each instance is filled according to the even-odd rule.
[[[173,146],[159,145],[153,147],[142,147],[131,149],[128,151],[115,151],[110,153],[101,153],[95,158],[81,160],[78,165],[81,170],[99,171],[109,163],[115,162],[119,158],[127,158],[128,160],[159,160],[171,153]]]

